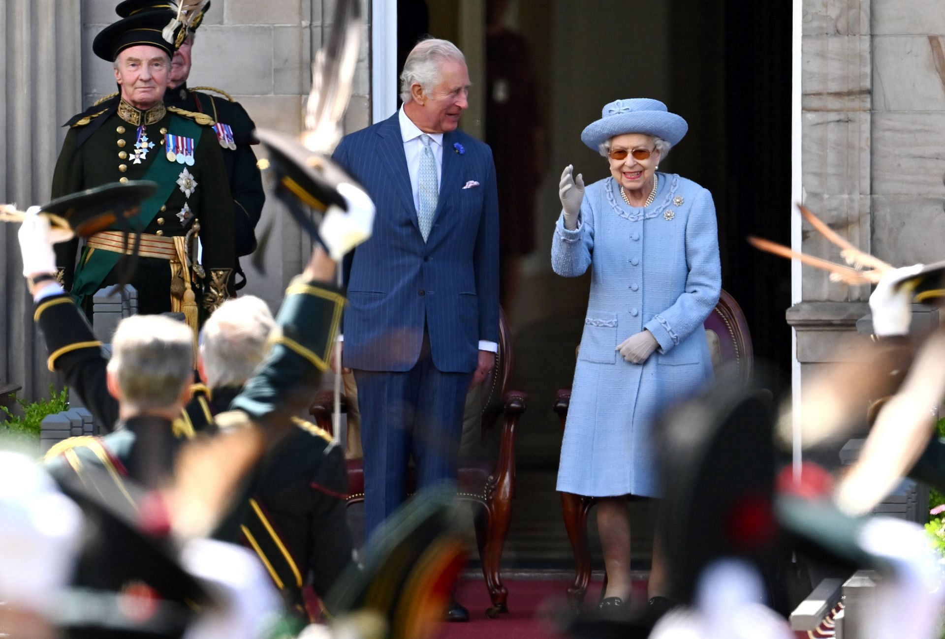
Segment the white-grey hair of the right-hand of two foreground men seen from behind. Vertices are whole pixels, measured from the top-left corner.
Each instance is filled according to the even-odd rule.
[[[220,305],[200,331],[200,358],[207,386],[242,386],[266,357],[275,320],[259,297],[241,295]]]

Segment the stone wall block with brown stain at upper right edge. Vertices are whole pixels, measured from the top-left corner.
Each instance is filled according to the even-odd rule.
[[[873,109],[945,109],[945,35],[873,38]]]

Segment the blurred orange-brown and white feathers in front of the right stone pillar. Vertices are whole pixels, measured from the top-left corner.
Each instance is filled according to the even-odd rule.
[[[806,207],[798,205],[798,208],[800,209],[800,214],[804,216],[804,219],[807,220],[812,227],[827,238],[831,244],[840,248],[840,257],[848,264],[851,264],[851,266],[844,266],[843,264],[837,264],[833,261],[815,258],[805,253],[799,253],[787,246],[782,246],[782,244],[776,244],[761,238],[749,236],[748,243],[766,253],[773,253],[782,258],[787,258],[788,260],[799,260],[809,266],[829,271],[832,281],[839,281],[845,284],[875,284],[879,282],[885,273],[892,270],[893,267],[885,263],[885,261],[874,258],[868,253],[864,253],[853,244],[850,244],[837,235],[833,228],[824,224],[822,220]]]

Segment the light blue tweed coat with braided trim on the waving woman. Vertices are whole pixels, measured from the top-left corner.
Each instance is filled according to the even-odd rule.
[[[585,190],[575,230],[558,218],[552,267],[592,275],[558,491],[659,496],[653,425],[712,376],[702,330],[722,285],[712,194],[659,177],[648,208],[628,206],[608,177]],[[616,346],[644,328],[660,347],[643,365],[625,362]]]

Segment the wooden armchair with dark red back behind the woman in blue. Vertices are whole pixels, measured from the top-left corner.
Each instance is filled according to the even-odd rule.
[[[713,366],[716,369],[723,365],[734,366],[737,377],[747,383],[751,378],[752,369],[751,337],[748,333],[745,313],[730,294],[722,291],[718,304],[706,318],[704,326]],[[571,389],[560,389],[555,398],[554,411],[558,413],[561,429],[564,429],[570,402]],[[568,600],[576,605],[584,600],[591,580],[591,550],[588,547],[587,518],[595,499],[572,493],[560,495],[564,526],[568,530],[568,539],[575,553],[575,582],[568,587]]]

